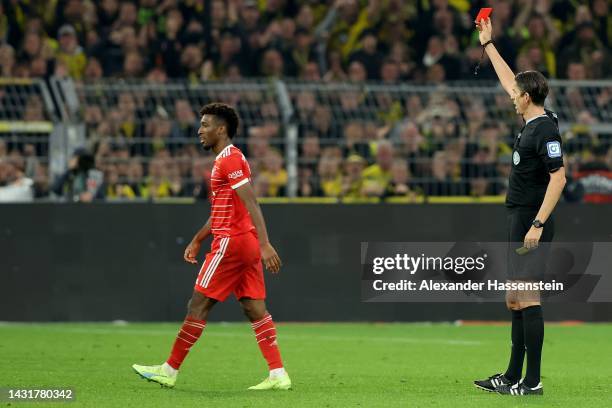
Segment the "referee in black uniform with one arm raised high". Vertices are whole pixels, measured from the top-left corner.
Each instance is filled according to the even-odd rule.
[[[557,116],[544,109],[548,84],[537,71],[516,76],[495,49],[491,20],[477,23],[480,44],[491,60],[504,90],[525,125],[516,136],[512,154],[506,207],[508,208],[508,280],[539,280],[546,267],[549,244],[554,235],[551,217],[565,186],[565,169]],[[525,255],[515,250],[523,247]],[[508,291],[506,305],[512,313],[512,352],[508,369],[476,387],[507,395],[542,395],[540,362],[544,340],[544,319],[539,291]],[[527,354],[525,377],[523,360]]]

